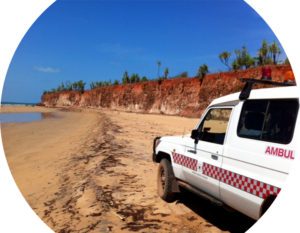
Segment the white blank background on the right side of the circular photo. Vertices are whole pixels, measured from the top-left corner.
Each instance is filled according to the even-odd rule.
[[[300,4],[298,0],[247,0],[271,27],[282,44],[294,71],[296,80],[300,77]],[[299,90],[299,86],[298,86]],[[300,90],[299,90],[300,91]],[[299,93],[299,92],[298,92]],[[299,116],[295,137],[300,138]],[[249,232],[299,232],[300,228],[300,159],[297,158],[285,186],[267,213]]]

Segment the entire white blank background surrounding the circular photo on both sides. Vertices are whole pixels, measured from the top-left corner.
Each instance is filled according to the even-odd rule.
[[[0,2],[0,94],[9,63],[26,31],[53,0]],[[298,0],[247,0],[272,28],[300,75],[300,7]],[[298,78],[299,80],[299,78]],[[298,124],[299,125],[299,124]],[[300,129],[298,135],[300,138]],[[299,148],[297,148],[299,151]],[[52,232],[27,204],[8,169],[0,148],[0,232]],[[296,155],[297,156],[297,155]],[[300,159],[295,160],[285,187],[275,203],[249,232],[295,232],[300,226]],[[238,224],[238,223],[237,223]],[[298,230],[299,231],[299,230]]]

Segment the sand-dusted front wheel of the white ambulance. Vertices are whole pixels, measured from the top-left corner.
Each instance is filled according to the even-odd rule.
[[[158,166],[157,190],[158,195],[166,202],[175,201],[175,193],[172,191],[174,173],[171,163],[167,159],[162,159]]]

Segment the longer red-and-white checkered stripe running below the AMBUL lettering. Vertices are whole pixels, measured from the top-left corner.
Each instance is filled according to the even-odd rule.
[[[204,175],[220,180],[235,188],[251,193],[255,196],[266,198],[268,195],[278,195],[280,188],[251,179],[237,173],[203,163],[202,171]]]

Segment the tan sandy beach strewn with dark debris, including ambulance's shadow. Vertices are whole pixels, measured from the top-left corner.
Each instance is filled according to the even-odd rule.
[[[245,232],[253,220],[191,193],[157,195],[156,136],[189,133],[198,119],[96,109],[18,106],[56,118],[1,125],[14,179],[55,232]]]

